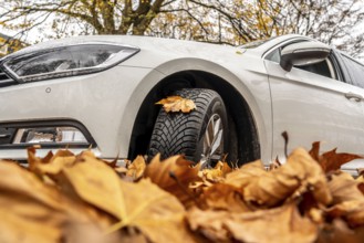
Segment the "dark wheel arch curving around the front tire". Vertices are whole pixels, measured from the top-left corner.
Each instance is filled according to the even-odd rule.
[[[150,106],[150,104],[180,88],[209,88],[216,91],[226,104],[229,126],[237,130],[237,136],[231,137],[232,142],[238,140],[238,142],[235,142],[238,144],[236,146],[237,155],[231,155],[230,160],[237,161],[236,159],[239,158],[241,163],[241,161],[247,162],[260,158],[261,139],[258,127],[261,127],[261,125],[257,122],[261,120],[261,117],[259,117],[257,110],[258,114],[253,114],[250,107],[251,104],[248,104],[246,97],[249,96],[248,101],[254,101],[252,94],[249,93],[247,87],[243,87],[245,94],[241,95],[235,85],[241,87],[241,85],[245,86],[243,83],[223,67],[212,62],[204,65],[201,62],[194,61],[179,60],[178,63],[183,62],[187,65],[183,68],[181,65],[176,65],[176,63],[156,68],[164,74],[167,73],[167,75],[148,92],[137,112],[132,130],[128,158],[133,159],[137,155],[144,155],[147,150],[154,123],[160,108],[156,105]],[[237,106],[237,104],[242,105]]]

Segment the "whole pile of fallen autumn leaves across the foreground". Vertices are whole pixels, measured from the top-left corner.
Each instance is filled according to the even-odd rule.
[[[0,242],[363,242],[364,178],[356,156],[294,150],[200,170],[181,156],[127,167],[60,150],[29,168],[0,162]]]

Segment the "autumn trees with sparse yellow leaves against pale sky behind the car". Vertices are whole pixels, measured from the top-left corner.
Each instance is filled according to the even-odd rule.
[[[361,0],[3,0],[0,25],[23,39],[39,29],[48,39],[145,34],[231,45],[299,33],[358,55],[362,7]]]

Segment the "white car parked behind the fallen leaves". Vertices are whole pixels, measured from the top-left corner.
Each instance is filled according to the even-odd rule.
[[[242,165],[289,148],[364,155],[364,66],[300,35],[232,47],[146,36],[81,36],[1,60],[0,158],[92,148],[104,159],[162,152]],[[166,114],[162,98],[197,109]]]

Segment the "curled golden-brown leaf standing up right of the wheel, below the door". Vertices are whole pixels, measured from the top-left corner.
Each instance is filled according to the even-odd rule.
[[[282,167],[261,175],[263,176],[252,176],[250,182],[249,178],[246,179],[242,188],[246,201],[274,207],[288,198],[297,198],[308,191],[322,204],[332,200],[325,175],[302,148],[295,149]]]

